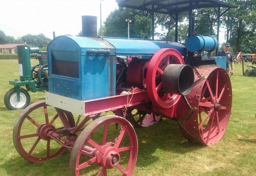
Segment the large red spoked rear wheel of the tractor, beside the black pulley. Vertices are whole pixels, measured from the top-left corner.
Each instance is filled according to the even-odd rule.
[[[211,89],[208,91],[210,96],[204,97],[209,88]],[[203,97],[204,99],[202,99]],[[208,99],[209,97],[210,99]],[[232,87],[230,79],[224,69],[217,68],[206,79],[198,104],[198,128],[203,143],[212,145],[220,141],[228,126],[231,105]],[[204,111],[208,113],[206,113],[205,118],[202,117]],[[206,120],[207,118],[208,120]]]

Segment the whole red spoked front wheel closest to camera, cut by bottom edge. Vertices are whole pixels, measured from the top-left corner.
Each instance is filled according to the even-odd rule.
[[[120,133],[116,124],[123,127]],[[86,126],[78,136],[70,155],[70,175],[106,176],[107,172],[110,175],[117,172],[130,176],[137,155],[138,141],[132,125],[122,117],[104,115]]]

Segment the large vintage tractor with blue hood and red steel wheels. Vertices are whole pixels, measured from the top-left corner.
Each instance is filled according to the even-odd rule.
[[[23,158],[41,162],[68,149],[70,175],[129,176],[138,154],[133,126],[152,125],[162,116],[177,121],[188,141],[220,141],[232,106],[229,76],[216,65],[218,57],[186,56],[187,49],[216,49],[214,37],[192,36],[187,48],[171,41],[97,37],[92,16],[82,17],[82,34],[58,36],[48,45],[46,100],[28,106],[14,126],[14,146]],[[116,55],[142,59],[126,66]],[[106,111],[112,114],[101,116]]]

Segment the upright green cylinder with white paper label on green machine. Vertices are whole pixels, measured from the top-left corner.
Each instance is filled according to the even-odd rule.
[[[20,80],[32,80],[30,68],[30,48],[28,45],[17,46]]]

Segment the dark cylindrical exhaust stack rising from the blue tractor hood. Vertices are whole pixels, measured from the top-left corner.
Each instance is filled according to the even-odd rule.
[[[96,16],[82,16],[82,36],[98,37]]]

